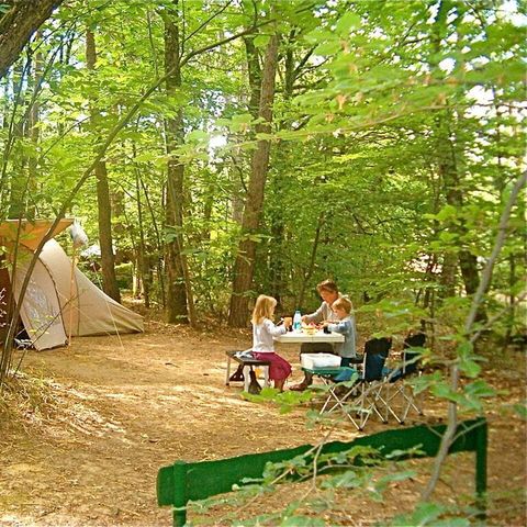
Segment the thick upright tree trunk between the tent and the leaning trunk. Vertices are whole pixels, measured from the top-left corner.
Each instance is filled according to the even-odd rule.
[[[165,70],[173,71],[167,79],[167,94],[173,96],[181,88],[179,27],[165,16]],[[169,323],[195,325],[194,303],[190,283],[187,257],[183,249],[183,176],[184,166],[175,155],[178,145],[183,143],[183,111],[166,120],[167,154],[167,226],[173,229],[172,239],[166,246],[167,269],[167,319]]]

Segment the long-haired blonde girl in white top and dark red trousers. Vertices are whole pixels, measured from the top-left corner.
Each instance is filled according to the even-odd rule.
[[[277,301],[272,296],[260,294],[253,311],[253,356],[258,360],[266,360],[269,365],[269,378],[274,381],[274,388],[283,391],[285,379],[291,374],[291,365],[274,352],[272,337],[283,335],[291,326],[291,318],[287,317],[282,326],[272,322]]]

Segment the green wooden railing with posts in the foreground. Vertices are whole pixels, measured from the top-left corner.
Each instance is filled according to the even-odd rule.
[[[386,430],[359,437],[352,441],[327,442],[323,446],[321,453],[341,452],[356,446],[368,446],[379,450],[381,458],[386,458],[395,450],[413,448],[418,449],[418,453],[412,455],[413,458],[434,457],[437,455],[445,429],[445,425],[422,425]],[[486,421],[484,418],[464,421],[458,425],[456,440],[449,450],[449,453],[475,452],[476,503],[482,514],[485,512],[486,444]],[[266,463],[293,459],[312,449],[312,445],[303,445],[296,448],[249,453],[216,461],[177,461],[169,467],[161,468],[158,472],[157,502],[160,506],[172,505],[173,525],[183,526],[187,523],[186,506],[189,501],[204,500],[231,492],[233,485],[242,485],[245,478],[261,478]],[[319,464],[318,469],[321,468]]]

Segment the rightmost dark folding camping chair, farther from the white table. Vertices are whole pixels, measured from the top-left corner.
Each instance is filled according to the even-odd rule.
[[[424,415],[422,397],[415,397],[414,390],[406,379],[412,375],[422,375],[421,371],[421,348],[425,346],[426,335],[416,333],[404,339],[403,352],[401,355],[402,363],[393,370],[384,370],[388,382],[386,395],[383,397],[385,403],[385,417],[392,414],[400,425],[404,425],[411,410],[418,415]],[[391,392],[391,386],[395,386],[395,391]],[[399,413],[392,407],[392,402],[400,400]]]

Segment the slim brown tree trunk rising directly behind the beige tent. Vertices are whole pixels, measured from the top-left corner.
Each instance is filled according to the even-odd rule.
[[[86,66],[93,70],[97,61],[96,38],[91,30],[86,31]],[[99,111],[93,101],[90,101],[90,121],[96,124],[99,120]],[[112,243],[112,206],[110,203],[110,187],[108,184],[106,164],[103,160],[97,162],[97,204],[99,245],[101,248],[102,289],[116,302],[121,302],[121,294],[115,277],[115,257]]]

